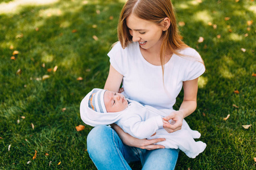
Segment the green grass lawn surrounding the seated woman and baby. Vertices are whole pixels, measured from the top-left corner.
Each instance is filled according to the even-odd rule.
[[[92,127],[86,125],[83,131],[75,127],[84,125],[81,99],[92,88],[104,87],[106,54],[117,41],[124,2],[46,2],[0,1],[0,169],[96,169],[86,152],[86,135]],[[255,169],[255,1],[172,2],[177,22],[185,22],[180,27],[184,41],[201,54],[207,68],[199,80],[197,110],[186,118],[192,129],[200,131],[207,148],[195,159],[180,152],[176,169]],[[247,25],[249,20],[253,24]],[[14,50],[19,54],[12,60]],[[55,66],[56,72],[47,71]],[[41,80],[43,75],[50,77]],[[83,80],[77,80],[79,76]],[[181,100],[182,93],[175,108]],[[242,128],[249,124],[249,129]],[[139,163],[132,166],[141,168]]]

